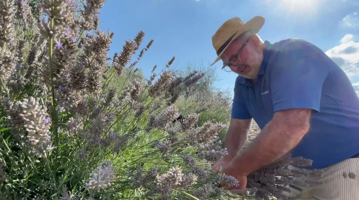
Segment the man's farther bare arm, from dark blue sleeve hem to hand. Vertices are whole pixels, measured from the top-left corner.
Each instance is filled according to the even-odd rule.
[[[251,128],[252,119],[230,119],[227,135],[224,141],[224,147],[227,148],[228,155],[226,160],[237,156],[237,152],[247,141],[248,132]]]

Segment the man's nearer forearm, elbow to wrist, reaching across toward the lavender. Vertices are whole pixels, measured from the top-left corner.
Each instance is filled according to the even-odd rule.
[[[306,132],[304,127],[293,128],[278,120],[270,121],[255,141],[232,160],[229,167],[238,174],[248,175],[279,160],[302,140]]]

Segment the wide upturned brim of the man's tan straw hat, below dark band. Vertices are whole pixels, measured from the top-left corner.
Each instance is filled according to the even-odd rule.
[[[227,44],[227,46],[222,50],[222,52],[220,52],[218,54],[218,57],[216,58],[216,60],[214,60],[214,62],[212,64],[210,64],[209,66],[214,65],[214,63],[218,62],[221,58],[221,55],[224,53],[224,51],[227,49],[227,47],[233,42],[233,40],[235,40],[236,38],[238,38],[240,35],[242,35],[244,32],[246,32],[247,30],[252,30],[253,34],[257,34],[259,32],[259,30],[262,28],[262,26],[264,25],[264,17],[261,16],[255,16],[254,18],[252,18],[251,20],[247,21],[246,24],[244,24],[240,29],[238,29],[236,35],[234,35],[234,37],[232,38],[232,40],[230,40],[230,42]]]

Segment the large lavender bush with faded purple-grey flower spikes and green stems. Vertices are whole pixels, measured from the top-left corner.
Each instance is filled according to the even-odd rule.
[[[218,188],[237,180],[211,170],[227,153],[226,125],[188,110],[173,122],[204,74],[176,76],[173,57],[143,77],[135,66],[154,40],[141,48],[142,30],[108,58],[114,33],[98,30],[105,0],[81,2],[0,2],[1,199],[246,198]],[[299,161],[248,176],[248,196],[284,199],[291,177],[307,175],[286,168]]]

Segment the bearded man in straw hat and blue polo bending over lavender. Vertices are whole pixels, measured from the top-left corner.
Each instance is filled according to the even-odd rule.
[[[247,175],[287,153],[322,169],[318,186],[300,199],[359,199],[359,98],[343,70],[322,50],[300,39],[263,42],[264,18],[227,20],[212,37],[222,69],[238,74],[225,139],[228,155],[214,164],[245,189]],[[211,65],[213,65],[212,63]],[[252,118],[260,134],[241,154]],[[295,167],[295,166],[293,166]],[[225,186],[222,183],[222,186]]]

